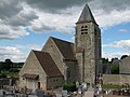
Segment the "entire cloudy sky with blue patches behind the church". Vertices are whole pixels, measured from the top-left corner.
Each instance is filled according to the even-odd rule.
[[[86,3],[102,31],[102,57],[130,55],[130,0],[0,0],[0,61],[25,61],[49,37],[74,42]]]

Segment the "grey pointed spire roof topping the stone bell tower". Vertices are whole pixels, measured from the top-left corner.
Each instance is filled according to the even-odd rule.
[[[91,10],[89,8],[88,4],[84,5],[83,10],[82,10],[82,13],[77,22],[77,24],[79,23],[86,23],[86,22],[94,22],[95,23],[95,19],[91,13]]]

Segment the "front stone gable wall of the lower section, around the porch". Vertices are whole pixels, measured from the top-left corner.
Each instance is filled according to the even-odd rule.
[[[40,82],[41,87],[43,89],[46,89],[47,74],[43,71],[42,67],[40,66],[39,61],[37,60],[32,51],[30,52],[30,54],[29,54],[25,65],[23,66],[22,70],[20,71],[20,83],[18,83],[20,87],[25,87],[27,85],[27,80],[23,78],[24,73],[38,74],[39,80],[36,81],[35,88],[37,88],[37,82]]]

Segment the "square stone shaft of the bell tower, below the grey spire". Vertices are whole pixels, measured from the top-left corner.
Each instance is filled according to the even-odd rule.
[[[82,31],[83,30],[83,31]],[[84,82],[94,83],[95,77],[101,72],[101,31],[94,23],[81,23],[76,25],[76,46],[84,48],[84,61],[82,70]],[[90,74],[91,73],[91,74]]]

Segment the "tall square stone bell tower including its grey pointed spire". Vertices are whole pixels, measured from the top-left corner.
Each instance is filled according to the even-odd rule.
[[[101,30],[88,4],[76,23],[76,48],[83,52],[78,60],[80,82],[95,83],[95,78],[102,73],[101,69]],[[77,53],[76,53],[77,56]]]

